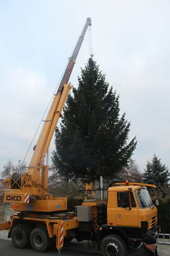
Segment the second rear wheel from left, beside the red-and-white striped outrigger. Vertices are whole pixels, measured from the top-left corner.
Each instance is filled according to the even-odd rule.
[[[45,252],[50,246],[47,228],[44,226],[34,228],[30,235],[30,242],[36,252]]]

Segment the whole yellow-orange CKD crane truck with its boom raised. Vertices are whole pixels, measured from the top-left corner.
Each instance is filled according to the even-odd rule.
[[[86,199],[74,207],[74,212],[64,214],[58,211],[67,210],[67,198],[53,198],[48,193],[48,164],[44,159],[71,89],[68,81],[88,26],[90,18],[69,58],[27,172],[13,173],[4,180],[10,189],[4,202],[11,203],[13,214],[10,221],[0,223],[0,230],[9,230],[8,237],[17,248],[31,243],[35,251],[44,252],[56,241],[60,255],[64,239],[76,238],[94,241],[95,250],[103,256],[125,256],[127,246],[137,248],[144,236],[159,232],[157,209],[146,188],[154,185],[113,181],[107,201]]]

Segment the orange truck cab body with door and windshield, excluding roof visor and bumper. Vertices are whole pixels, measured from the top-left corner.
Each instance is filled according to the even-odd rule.
[[[141,228],[148,222],[151,229],[157,220],[157,208],[145,186],[119,185],[108,189],[107,225]]]

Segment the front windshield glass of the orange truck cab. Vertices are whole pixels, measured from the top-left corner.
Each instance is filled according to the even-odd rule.
[[[147,208],[153,205],[147,189],[145,188],[137,189],[135,190],[135,194],[136,194],[137,202],[140,208]]]

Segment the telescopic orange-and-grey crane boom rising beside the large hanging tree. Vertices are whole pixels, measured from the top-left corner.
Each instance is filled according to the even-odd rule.
[[[72,69],[75,64],[75,60],[77,58],[78,52],[80,50],[81,44],[83,42],[85,33],[87,31],[88,26],[91,26],[91,19],[87,18],[85,22],[85,26],[82,30],[81,35],[79,36],[78,42],[75,46],[72,56],[69,58],[68,65],[63,74],[63,78],[57,90],[57,93],[52,102],[51,108],[48,112],[47,119],[45,120],[40,138],[34,150],[28,172],[32,174],[33,180],[39,180],[40,175],[38,170],[41,169],[43,165],[43,160],[45,154],[47,153],[48,147],[50,145],[52,136],[55,131],[55,127],[58,123],[59,117],[61,116],[61,112],[65,103],[65,100],[68,96],[68,93],[71,89],[70,84],[68,84]],[[47,171],[46,171],[47,173]]]

